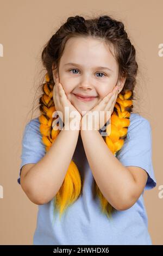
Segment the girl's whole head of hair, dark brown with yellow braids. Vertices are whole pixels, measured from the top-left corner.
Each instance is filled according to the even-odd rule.
[[[54,64],[58,66],[64,46],[69,38],[90,35],[102,38],[108,45],[114,46],[115,58],[119,66],[118,76],[126,76],[126,82],[121,93],[117,96],[114,111],[111,114],[111,132],[108,130],[109,126],[106,126],[108,136],[104,136],[103,139],[114,155],[123,147],[124,141],[127,139],[138,65],[135,60],[135,48],[131,45],[126,31],[124,31],[124,25],[107,15],[88,20],[81,16],[68,17],[67,21],[52,36],[42,51],[42,63],[47,72],[45,81],[41,84],[43,93],[39,100],[41,112],[39,121],[42,142],[45,144],[46,151],[55,143],[55,138],[60,132],[60,130],[53,129],[53,122],[57,118],[53,117],[53,113],[56,111],[53,101],[53,66]],[[102,212],[111,217],[116,209],[103,196],[95,179],[93,179],[93,182],[95,192],[101,202]],[[60,212],[60,217],[67,207],[78,199],[82,191],[82,185],[77,164],[72,160],[60,190],[54,197],[54,203]]]

